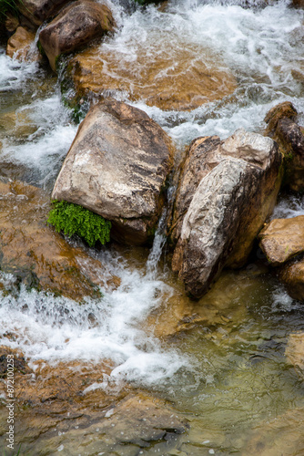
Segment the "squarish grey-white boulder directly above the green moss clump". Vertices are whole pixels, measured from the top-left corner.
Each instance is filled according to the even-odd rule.
[[[111,220],[118,241],[144,244],[161,212],[172,151],[145,112],[106,98],[80,124],[52,197]]]

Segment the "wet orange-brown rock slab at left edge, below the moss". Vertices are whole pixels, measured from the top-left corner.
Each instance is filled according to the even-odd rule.
[[[89,260],[104,268],[81,248],[72,247],[46,225],[49,197],[21,182],[0,183],[0,264],[2,271],[16,275],[28,286],[82,299],[99,296],[102,279],[80,267]]]

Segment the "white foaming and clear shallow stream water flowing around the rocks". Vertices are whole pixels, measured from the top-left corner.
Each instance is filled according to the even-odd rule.
[[[163,78],[182,48],[188,67],[199,61],[208,67],[217,58],[236,81],[231,93],[184,111],[151,106],[147,98],[132,99],[126,90],[111,92],[147,111],[180,152],[198,136],[224,139],[239,127],[262,132],[265,114],[281,101],[292,101],[304,113],[304,12],[288,2],[247,7],[169,0],[164,12],[154,6],[124,11],[115,2],[108,4],[118,28],[100,53],[116,56],[114,76],[128,66],[145,74],[143,66],[160,59]],[[77,130],[61,103],[56,78],[36,64],[11,60],[2,49],[0,89],[3,179],[50,193]],[[273,217],[303,213],[301,195],[282,195]],[[258,253],[244,270],[226,272],[208,295],[192,302],[170,272],[165,224],[166,212],[151,251],[116,245],[87,249],[92,261],[100,260],[109,276],[120,279],[116,288],[104,287],[98,300],[87,298],[79,305],[30,291],[14,275],[1,275],[0,337],[3,346],[23,353],[34,379],[41,363],[52,368],[66,363],[76,371],[85,366],[91,373],[99,369],[94,382],[83,384],[85,397],[146,391],[168,400],[187,419],[188,429],[177,440],[137,443],[136,448],[125,442],[113,450],[113,441],[106,443],[98,428],[89,438],[85,428],[73,433],[77,425],[63,435],[52,424],[53,412],[44,418],[49,427],[35,434],[26,426],[40,424],[20,409],[27,417],[16,437],[21,454],[304,454],[304,388],[285,356],[289,334],[304,331],[304,308]],[[103,371],[104,362],[110,368]],[[1,413],[5,416],[6,410]],[[90,446],[96,441],[99,450]],[[5,445],[3,436],[0,445]]]

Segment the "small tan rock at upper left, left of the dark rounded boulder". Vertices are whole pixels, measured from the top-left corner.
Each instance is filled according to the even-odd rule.
[[[35,40],[35,34],[18,26],[15,34],[7,41],[6,54],[9,57],[18,58],[18,60],[37,61],[42,57],[38,49],[32,51],[31,45]]]

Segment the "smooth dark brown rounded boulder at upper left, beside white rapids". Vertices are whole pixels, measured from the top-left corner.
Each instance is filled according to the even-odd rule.
[[[67,5],[39,35],[51,67],[56,71],[56,58],[73,52],[95,38],[113,31],[115,21],[106,5],[91,0],[78,0]]]

